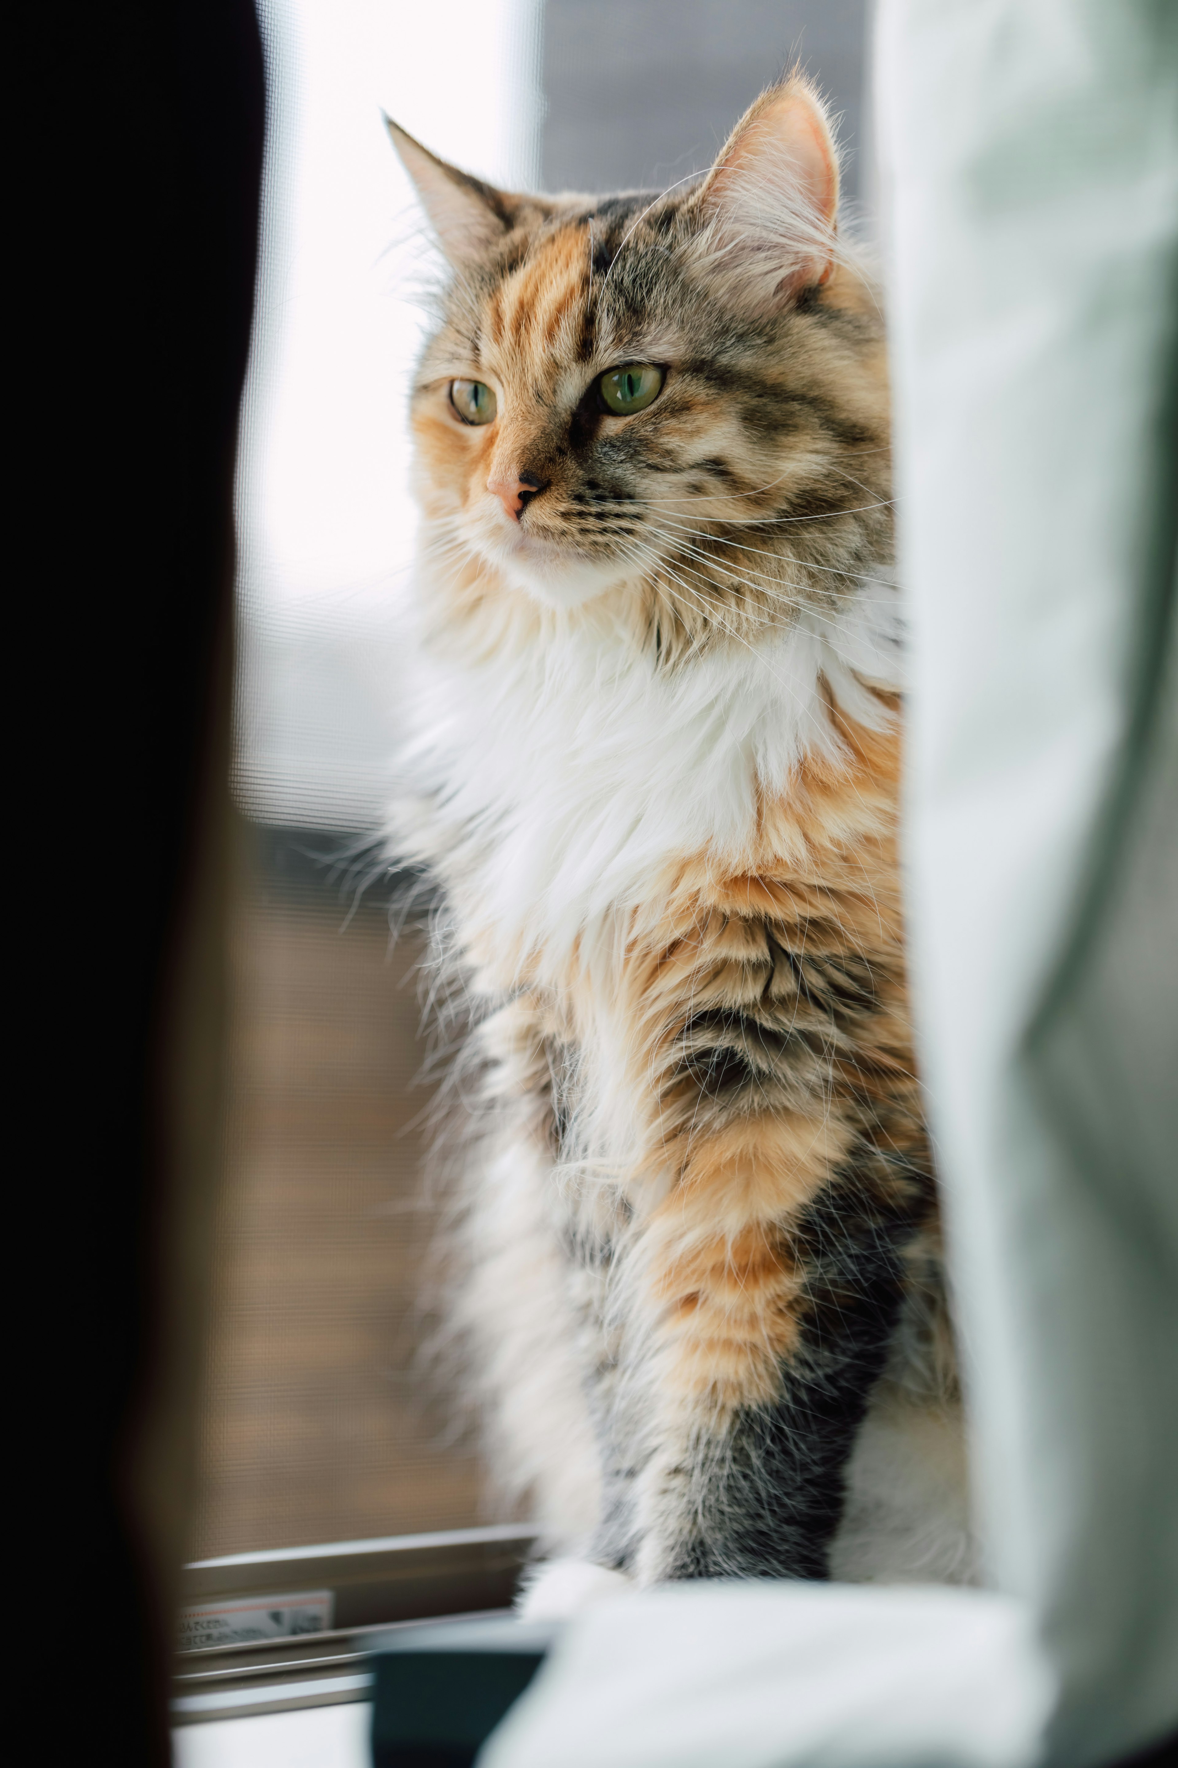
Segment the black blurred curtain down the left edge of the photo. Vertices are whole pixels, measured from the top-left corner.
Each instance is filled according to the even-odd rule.
[[[19,34],[9,827],[35,880],[32,918],[9,923],[19,1619],[37,1724],[65,1756],[162,1763],[221,1135],[263,65],[247,0],[28,9]]]

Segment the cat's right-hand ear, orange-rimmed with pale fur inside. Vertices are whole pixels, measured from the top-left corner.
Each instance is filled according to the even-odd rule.
[[[828,279],[839,154],[827,108],[804,74],[745,111],[698,202],[710,272],[754,313],[768,315]]]

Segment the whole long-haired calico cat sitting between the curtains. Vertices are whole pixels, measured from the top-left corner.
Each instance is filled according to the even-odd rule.
[[[876,293],[798,72],[666,194],[390,124],[450,274],[394,843],[470,1017],[456,1315],[503,1483],[620,1579],[970,1575],[897,873]]]

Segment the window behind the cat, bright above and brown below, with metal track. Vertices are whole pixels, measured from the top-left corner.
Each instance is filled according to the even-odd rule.
[[[528,1549],[526,1519],[487,1513],[475,1444],[422,1361],[420,934],[390,937],[378,831],[427,253],[380,111],[507,186],[662,186],[710,163],[797,53],[842,115],[846,191],[864,205],[864,0],[261,5],[263,267],[238,458],[244,865],[185,1589],[238,1616],[238,1634],[261,1625],[240,1621],[251,1602],[277,1597],[307,1598],[306,1625],[336,1635],[493,1607]],[[295,1607],[279,1634],[302,1625]],[[251,1665],[265,1681],[290,1657],[281,1637],[251,1650],[235,1658],[244,1692]],[[339,1639],[316,1650],[346,1655]],[[228,1685],[210,1680],[224,1664],[189,1664],[187,1717],[224,1710]],[[272,1704],[291,1703],[306,1699]]]

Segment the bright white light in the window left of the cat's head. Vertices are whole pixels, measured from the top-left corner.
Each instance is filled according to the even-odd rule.
[[[406,387],[431,255],[381,111],[535,182],[535,0],[276,0],[263,274],[238,470],[237,785],[265,820],[366,827],[381,658],[412,564]]]

